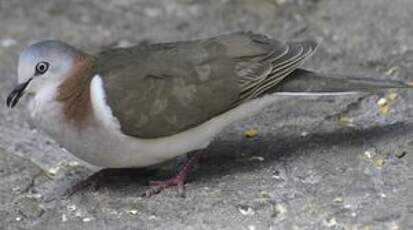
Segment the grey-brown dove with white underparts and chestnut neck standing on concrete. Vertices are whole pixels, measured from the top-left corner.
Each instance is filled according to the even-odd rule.
[[[31,123],[74,156],[104,168],[148,167],[191,153],[178,173],[146,196],[176,186],[220,131],[280,95],[345,95],[406,82],[321,74],[300,68],[313,40],[280,41],[252,32],[86,53],[46,40],[24,48],[18,84]],[[282,108],[280,108],[282,109]]]

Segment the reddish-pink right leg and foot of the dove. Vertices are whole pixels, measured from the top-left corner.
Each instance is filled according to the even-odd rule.
[[[186,177],[188,173],[191,171],[193,165],[199,161],[202,155],[202,150],[195,151],[195,153],[184,163],[182,168],[179,169],[178,173],[174,177],[163,181],[150,181],[149,188],[146,189],[144,196],[150,197],[154,194],[161,192],[166,188],[173,186],[177,186],[178,194],[180,196],[184,196],[184,184]]]

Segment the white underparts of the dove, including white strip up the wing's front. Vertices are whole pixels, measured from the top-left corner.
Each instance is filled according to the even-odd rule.
[[[223,128],[257,113],[276,100],[274,95],[268,95],[173,136],[139,139],[121,133],[116,118],[106,105],[98,76],[93,79],[91,89],[96,122],[89,126],[78,128],[68,123],[64,120],[61,104],[45,100],[41,94],[29,104],[30,115],[38,128],[76,157],[93,165],[110,168],[149,166],[206,148]]]

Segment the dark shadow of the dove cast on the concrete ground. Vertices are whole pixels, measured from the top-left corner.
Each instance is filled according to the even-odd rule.
[[[201,167],[198,170],[190,174],[188,181],[216,180],[223,175],[253,171],[258,167],[271,167],[281,158],[294,157],[299,154],[300,149],[311,151],[321,145],[325,147],[337,145],[360,147],[365,143],[380,141],[389,135],[408,133],[412,127],[406,123],[395,123],[367,129],[338,129],[333,132],[308,136],[267,135],[253,141],[221,140],[212,143],[208,150],[208,157],[201,161]],[[243,153],[241,157],[240,152]],[[242,160],[250,159],[257,152],[265,161],[255,161],[259,163],[254,163]],[[168,179],[171,176],[173,176],[172,170],[168,172],[145,168],[102,169],[77,184],[76,186],[79,188],[75,186],[74,190],[78,193],[84,189],[99,190],[104,188],[110,192],[134,195],[143,193],[148,181]],[[134,189],[130,189],[131,187]]]

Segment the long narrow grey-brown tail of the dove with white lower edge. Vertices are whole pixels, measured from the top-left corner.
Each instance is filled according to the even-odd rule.
[[[297,69],[280,82],[269,93],[290,95],[338,95],[361,92],[375,92],[384,89],[412,88],[413,84],[372,78],[344,75],[323,75]]]

